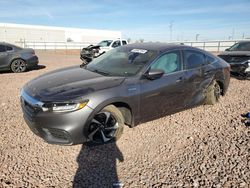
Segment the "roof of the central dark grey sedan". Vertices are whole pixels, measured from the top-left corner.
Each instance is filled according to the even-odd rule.
[[[185,45],[182,45],[182,44],[161,43],[161,42],[133,43],[133,44],[126,45],[126,47],[139,48],[139,49],[152,50],[152,51],[159,51],[159,52],[164,52],[164,51],[172,50],[172,49],[180,49],[180,48],[183,48],[183,47],[190,48],[190,49],[196,49],[196,48],[193,48],[193,47],[190,47],[190,46],[185,46]]]

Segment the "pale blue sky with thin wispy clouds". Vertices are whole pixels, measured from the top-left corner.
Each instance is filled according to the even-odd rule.
[[[250,38],[250,0],[0,0],[0,22],[119,30],[145,41],[240,39]]]

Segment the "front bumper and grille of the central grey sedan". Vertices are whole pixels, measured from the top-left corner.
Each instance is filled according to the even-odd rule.
[[[84,127],[88,124],[93,110],[85,106],[73,112],[44,112],[43,103],[21,92],[23,117],[37,136],[50,144],[74,145],[87,141]]]

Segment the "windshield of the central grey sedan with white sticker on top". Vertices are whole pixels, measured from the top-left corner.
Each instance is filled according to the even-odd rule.
[[[136,75],[156,56],[155,51],[123,46],[99,56],[84,68],[102,75],[128,77]]]

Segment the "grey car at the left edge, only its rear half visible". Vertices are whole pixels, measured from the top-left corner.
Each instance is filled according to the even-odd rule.
[[[33,49],[0,42],[0,70],[19,73],[36,67],[37,64],[38,57]]]

